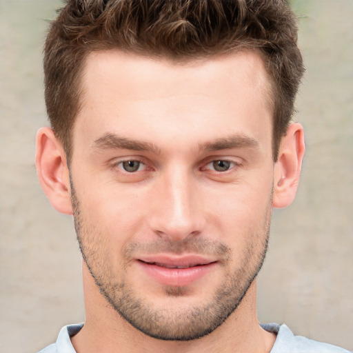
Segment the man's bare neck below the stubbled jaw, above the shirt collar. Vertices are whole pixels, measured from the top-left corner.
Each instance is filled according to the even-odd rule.
[[[256,317],[256,281],[250,285],[236,311],[216,330],[192,341],[163,341],[135,329],[106,301],[83,266],[85,325],[72,345],[77,353],[268,353],[275,336],[263,330]]]

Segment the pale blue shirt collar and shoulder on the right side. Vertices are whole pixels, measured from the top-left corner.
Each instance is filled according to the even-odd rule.
[[[276,341],[270,353],[350,353],[347,350],[307,339],[303,336],[295,336],[286,325],[263,324],[265,330],[277,334]]]

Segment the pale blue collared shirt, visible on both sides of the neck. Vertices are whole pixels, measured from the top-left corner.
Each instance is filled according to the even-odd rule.
[[[39,353],[76,353],[72,347],[70,337],[81,330],[83,323],[68,325],[61,329],[57,342],[41,350]],[[343,348],[307,339],[303,336],[294,336],[286,325],[264,323],[261,326],[277,335],[270,353],[350,353]]]

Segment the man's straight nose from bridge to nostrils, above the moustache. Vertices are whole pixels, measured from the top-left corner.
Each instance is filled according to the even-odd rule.
[[[174,168],[156,183],[150,226],[159,236],[182,241],[203,231],[205,220],[201,210],[196,181],[187,171]]]

